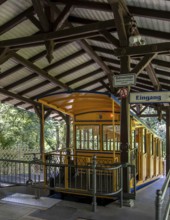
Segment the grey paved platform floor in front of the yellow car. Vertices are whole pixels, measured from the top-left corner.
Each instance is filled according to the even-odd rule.
[[[110,203],[107,206],[98,206],[97,211],[92,212],[89,204],[72,201],[58,201],[51,208],[15,204],[5,202],[2,198],[13,193],[33,194],[33,190],[27,187],[0,188],[0,220],[152,220],[155,219],[155,193],[160,189],[164,178],[137,192],[135,206],[123,207]],[[42,196],[48,192],[43,191]]]

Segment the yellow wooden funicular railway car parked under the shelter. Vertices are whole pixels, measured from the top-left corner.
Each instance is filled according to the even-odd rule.
[[[115,97],[106,93],[68,92],[43,97],[39,99],[39,102],[68,114],[72,118],[73,154],[69,154],[69,158],[72,158],[74,169],[75,166],[88,166],[91,164],[94,155],[96,156],[97,165],[101,167],[108,166],[108,164],[121,164],[121,107]],[[133,178],[137,180],[137,186],[139,187],[153,181],[163,173],[162,140],[133,114],[130,116],[130,125],[129,164],[136,167]],[[68,159],[62,159],[62,163],[68,164]],[[91,181],[89,180],[90,172],[87,172],[87,167],[75,171],[74,177],[77,175],[86,179],[85,181],[81,179],[81,183],[78,184],[79,180],[72,178],[72,174],[70,174],[72,172],[69,172],[68,167],[65,168],[63,187],[67,190],[69,188],[75,190],[77,187],[82,190],[79,193],[83,194],[83,189],[85,189],[83,188],[83,182],[87,186],[87,182]],[[111,173],[113,174],[112,177],[110,177]],[[103,174],[101,171],[99,175],[98,171],[97,181],[100,181],[99,187],[108,184],[106,188],[115,188],[115,182],[119,181],[115,178],[113,182],[115,175],[117,173],[115,174],[112,171],[107,171],[107,174],[106,172]],[[57,186],[57,181],[61,182],[61,177],[59,179],[55,180],[55,186]],[[106,181],[106,179],[108,180]],[[129,184],[132,184],[131,180]],[[58,186],[58,188],[61,188],[61,185]]]

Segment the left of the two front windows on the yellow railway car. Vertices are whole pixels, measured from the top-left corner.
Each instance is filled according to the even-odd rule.
[[[84,129],[77,130],[77,127],[83,127]],[[85,129],[85,127],[87,128]],[[92,127],[96,127],[98,129],[98,135],[96,137],[95,135],[93,135],[94,130]],[[88,131],[88,132],[86,133],[85,131]],[[77,137],[78,132],[80,134],[79,139]],[[92,138],[90,138],[90,133],[91,133]],[[75,125],[75,149],[76,150],[99,151],[100,150],[100,125],[96,125],[96,124]]]

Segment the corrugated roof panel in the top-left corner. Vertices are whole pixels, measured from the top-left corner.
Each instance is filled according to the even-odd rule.
[[[22,13],[26,9],[28,9],[32,5],[31,0],[23,1],[23,0],[8,0],[3,3],[0,7],[0,25],[5,24],[10,21],[18,14]]]

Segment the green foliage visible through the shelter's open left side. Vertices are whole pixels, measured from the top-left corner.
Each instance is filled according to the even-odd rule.
[[[45,148],[47,151],[57,147],[57,122],[47,119],[45,122]],[[63,130],[58,136],[63,139]],[[60,138],[60,139],[61,139]],[[58,141],[59,142],[59,141]],[[39,149],[40,123],[32,112],[0,105],[0,147],[1,149],[16,149],[24,147]]]

